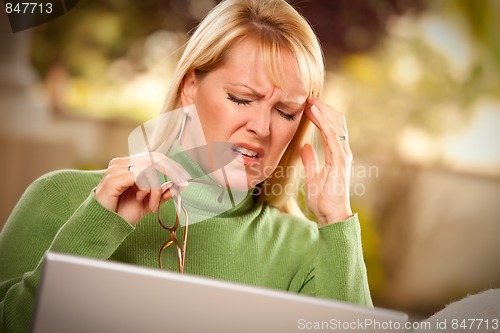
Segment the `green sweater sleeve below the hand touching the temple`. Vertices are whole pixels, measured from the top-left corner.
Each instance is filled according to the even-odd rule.
[[[317,253],[301,293],[373,306],[357,215],[319,228]]]

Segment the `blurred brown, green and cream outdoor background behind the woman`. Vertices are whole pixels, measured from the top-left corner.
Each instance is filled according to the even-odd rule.
[[[500,1],[291,2],[347,117],[375,305],[426,317],[499,288]],[[0,13],[0,228],[43,173],[127,155],[215,4],[82,0],[17,33]]]

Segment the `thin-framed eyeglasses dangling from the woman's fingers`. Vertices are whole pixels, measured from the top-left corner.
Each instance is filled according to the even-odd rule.
[[[218,203],[222,203],[222,200],[224,198],[224,189],[221,184],[218,183],[212,183],[200,179],[191,179],[188,180],[190,183],[200,183],[200,184],[205,184],[205,185],[210,185],[210,186],[215,186],[219,187],[221,189],[221,194],[217,198]],[[161,219],[161,214],[160,214],[160,205],[158,205],[158,210],[157,210],[157,216],[158,216],[158,223],[160,226],[167,230],[169,233],[169,238],[168,240],[161,246],[160,251],[158,252],[158,266],[160,269],[163,269],[162,265],[162,255],[163,251],[167,249],[170,245],[174,244],[175,248],[177,250],[177,259],[179,262],[179,272],[182,274],[184,273],[184,264],[186,262],[186,245],[187,245],[187,235],[188,235],[188,227],[189,227],[189,213],[182,203],[181,199],[181,194],[179,188],[173,184],[170,183],[171,187],[174,187],[176,191],[176,210],[175,210],[175,222],[172,227],[167,227],[165,223],[163,223]],[[179,244],[179,240],[177,239],[177,228],[179,227],[179,222],[181,219],[181,211],[184,212],[185,216],[185,225],[184,225],[184,234],[183,234],[183,239],[182,239],[182,246]]]

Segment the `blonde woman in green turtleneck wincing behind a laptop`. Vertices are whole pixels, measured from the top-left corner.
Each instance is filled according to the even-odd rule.
[[[164,155],[183,126],[175,117],[162,129],[164,137],[151,143],[155,152],[113,159],[105,171],[41,177],[0,235],[3,331],[27,330],[48,250],[158,267],[168,232],[156,213],[172,221],[180,197],[190,215],[207,218],[189,227],[187,257],[164,249],[164,269],[178,270],[182,261],[189,274],[371,305],[359,222],[349,203],[347,127],[342,114],[318,98],[323,79],[317,39],[285,1],[220,3],[187,43],[165,109],[194,106],[207,143],[228,143],[244,167],[246,179],[228,170],[229,182],[251,190],[211,214],[220,188],[190,182],[207,168],[182,151],[172,157],[177,162]],[[311,122],[323,137],[321,169],[312,146],[304,145]],[[287,172],[300,159],[318,224],[297,213],[291,191],[297,180]],[[140,184],[152,165],[168,185]],[[269,190],[276,188],[287,190]],[[182,228],[177,231],[181,239]]]

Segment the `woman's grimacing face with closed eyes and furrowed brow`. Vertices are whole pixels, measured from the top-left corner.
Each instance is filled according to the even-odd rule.
[[[282,56],[281,87],[251,40],[236,44],[215,70],[184,79],[183,105],[195,104],[207,143],[229,143],[233,162],[225,177],[239,188],[252,188],[274,172],[303,115],[307,93],[291,54]]]

